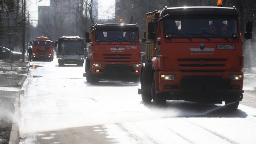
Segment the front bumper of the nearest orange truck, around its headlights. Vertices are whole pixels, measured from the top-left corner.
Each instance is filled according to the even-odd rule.
[[[231,81],[230,75],[243,75],[243,72],[159,72],[162,74],[174,74],[173,81],[159,79],[158,93],[180,92],[187,94],[226,94],[242,93],[243,81]]]

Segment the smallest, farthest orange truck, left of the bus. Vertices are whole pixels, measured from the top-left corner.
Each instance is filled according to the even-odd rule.
[[[53,43],[44,36],[35,38],[32,43],[32,60],[33,61],[52,61],[53,60]]]

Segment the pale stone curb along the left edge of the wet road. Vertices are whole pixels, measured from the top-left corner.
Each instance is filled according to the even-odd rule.
[[[30,62],[28,63],[28,72],[29,72],[29,67],[30,67]],[[18,83],[19,87],[23,86],[23,84],[28,76],[28,72],[19,81],[19,83]],[[11,126],[9,144],[19,144],[20,143],[20,133],[19,133],[20,96],[15,99],[15,103],[13,105],[15,107],[15,113],[13,115],[13,124]]]

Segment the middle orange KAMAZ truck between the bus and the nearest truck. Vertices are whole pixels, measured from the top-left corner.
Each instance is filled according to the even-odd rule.
[[[139,82],[141,73],[141,43],[135,24],[96,24],[86,33],[89,57],[85,60],[86,80]]]

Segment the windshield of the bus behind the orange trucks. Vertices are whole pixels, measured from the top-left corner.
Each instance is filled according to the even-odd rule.
[[[58,54],[83,54],[83,41],[60,41]]]

